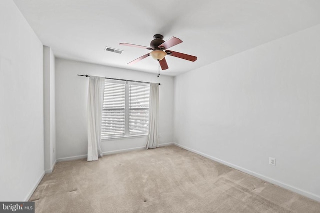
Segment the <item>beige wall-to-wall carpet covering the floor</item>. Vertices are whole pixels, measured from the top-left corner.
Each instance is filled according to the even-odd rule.
[[[176,146],[57,163],[36,213],[320,213],[320,203]]]

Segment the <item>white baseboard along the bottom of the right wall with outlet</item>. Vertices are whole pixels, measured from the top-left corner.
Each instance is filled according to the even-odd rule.
[[[290,185],[288,185],[288,184],[279,182],[279,181],[274,180],[274,179],[272,179],[272,178],[268,178],[268,177],[266,177],[266,176],[264,176],[264,175],[255,173],[255,172],[250,171],[250,170],[247,170],[247,169],[244,169],[244,168],[242,168],[242,167],[236,166],[236,165],[234,165],[234,164],[231,164],[231,163],[228,163],[228,162],[226,162],[226,161],[220,160],[220,159],[218,159],[218,158],[212,157],[212,156],[210,156],[210,155],[204,154],[204,153],[202,153],[202,152],[198,152],[198,151],[196,151],[196,150],[194,150],[194,149],[185,147],[185,146],[183,146],[183,145],[180,145],[180,144],[177,144],[177,143],[174,143],[174,145],[176,145],[176,146],[178,146],[178,147],[180,147],[180,148],[182,148],[182,149],[188,150],[188,151],[190,151],[190,152],[193,152],[193,153],[195,153],[195,154],[201,155],[201,156],[203,156],[203,157],[205,157],[205,158],[208,158],[208,159],[211,159],[211,160],[213,160],[213,161],[216,161],[216,162],[219,162],[219,163],[221,163],[221,164],[224,164],[224,165],[226,165],[226,166],[228,166],[228,167],[232,167],[232,168],[234,168],[234,169],[236,169],[236,170],[239,170],[239,171],[244,172],[244,173],[246,173],[246,174],[252,175],[252,176],[254,176],[254,177],[256,177],[256,178],[262,179],[262,180],[264,180],[264,181],[267,181],[267,182],[269,182],[269,183],[271,183],[271,184],[277,185],[277,186],[279,186],[279,187],[282,187],[282,188],[287,189],[287,190],[289,190],[289,191],[292,191],[292,192],[294,192],[294,193],[300,194],[300,195],[302,195],[302,196],[305,196],[305,197],[307,197],[307,198],[310,198],[310,199],[313,199],[313,200],[315,200],[315,201],[320,202],[320,196],[319,196],[319,195],[315,195],[315,194],[313,194],[313,193],[306,192],[306,191],[304,191],[304,190],[301,190],[301,189],[298,189],[298,188],[296,188],[296,187],[290,186]]]

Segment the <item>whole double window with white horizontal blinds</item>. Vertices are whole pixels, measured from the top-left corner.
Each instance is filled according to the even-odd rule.
[[[149,84],[104,81],[101,138],[148,133]]]

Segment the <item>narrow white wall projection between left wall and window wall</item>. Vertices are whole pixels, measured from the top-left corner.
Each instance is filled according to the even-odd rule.
[[[51,173],[55,153],[55,59],[50,47],[43,46],[44,170]]]

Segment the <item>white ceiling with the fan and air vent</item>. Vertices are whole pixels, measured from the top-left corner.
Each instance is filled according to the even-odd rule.
[[[170,50],[197,56],[190,62],[165,56],[175,76],[320,23],[320,0],[13,0],[41,42],[56,57],[156,73],[147,57],[153,34],[183,42]],[[105,46],[124,50],[122,54]]]

